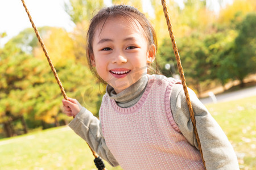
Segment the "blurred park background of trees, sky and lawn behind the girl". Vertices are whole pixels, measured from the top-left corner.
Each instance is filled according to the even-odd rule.
[[[160,0],[25,2],[67,95],[96,116],[105,87],[90,73],[85,37],[101,7],[142,11],[156,30],[160,71],[179,77]],[[166,2],[188,87],[228,135],[240,168],[256,169],[256,1]],[[0,1],[0,14],[0,169],[96,169],[85,142],[65,126],[72,118],[62,113],[63,96],[22,2]],[[240,90],[249,95],[232,94]],[[225,94],[234,99],[218,100]]]

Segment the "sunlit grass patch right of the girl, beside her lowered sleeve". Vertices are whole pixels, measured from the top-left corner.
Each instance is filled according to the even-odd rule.
[[[206,105],[220,124],[234,150],[241,169],[256,169],[256,96]]]

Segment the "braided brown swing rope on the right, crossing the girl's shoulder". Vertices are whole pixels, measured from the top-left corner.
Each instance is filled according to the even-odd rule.
[[[188,89],[187,89],[187,85],[186,85],[186,82],[185,82],[185,76],[184,76],[183,68],[181,66],[180,56],[179,56],[179,52],[178,52],[175,37],[174,37],[174,32],[172,32],[172,24],[171,24],[170,16],[168,14],[166,1],[161,0],[161,2],[162,2],[162,6],[163,6],[164,16],[166,17],[168,31],[170,33],[170,37],[171,37],[171,40],[172,40],[172,48],[174,49],[174,54],[175,54],[175,58],[176,58],[176,61],[177,61],[177,67],[179,69],[181,83],[183,85],[183,90],[184,90],[184,93],[185,93],[185,96],[186,96],[186,101],[187,101],[187,105],[188,105],[188,109],[189,109],[189,113],[190,113],[190,118],[191,118],[191,121],[192,121],[192,124],[193,124],[193,131],[194,131],[194,134],[195,134],[195,137],[196,137],[196,141],[198,143],[198,147],[199,147],[199,150],[200,150],[201,158],[203,160],[204,168],[206,169],[205,161],[204,161],[204,157],[203,157],[203,151],[202,151],[202,148],[201,148],[199,135],[198,135],[197,129],[196,129],[195,114],[193,112],[192,104],[191,104],[191,101],[190,101],[190,98],[189,98]]]

